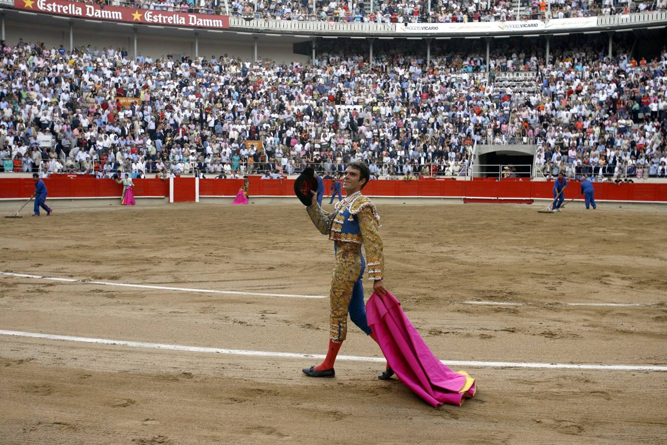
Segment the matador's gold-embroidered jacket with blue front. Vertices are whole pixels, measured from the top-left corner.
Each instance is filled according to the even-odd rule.
[[[382,280],[384,255],[382,238],[378,232],[380,215],[368,197],[361,192],[354,193],[336,203],[333,213],[323,211],[319,205],[305,209],[315,227],[322,234],[328,234],[330,240],[337,243],[364,244],[368,278]]]

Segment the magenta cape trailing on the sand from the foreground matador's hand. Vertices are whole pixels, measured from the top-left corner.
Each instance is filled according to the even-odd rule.
[[[428,404],[461,405],[475,395],[474,379],[465,371],[452,371],[433,355],[390,292],[374,292],[366,303],[366,316],[396,376]]]

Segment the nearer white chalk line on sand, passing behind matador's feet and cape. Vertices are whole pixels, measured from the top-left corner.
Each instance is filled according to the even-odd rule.
[[[229,354],[257,357],[280,358],[324,358],[323,354],[296,354],[293,352],[253,351],[243,349],[205,348],[201,346],[182,346],[179,344],[131,342],[127,340],[108,340],[105,338],[75,337],[69,335],[41,334],[37,332],[23,332],[19,330],[0,330],[0,335],[43,338],[45,340],[63,340],[70,342],[109,344],[114,346],[129,346],[131,348],[167,349],[187,352],[205,352],[215,354]],[[384,358],[338,356],[338,360],[354,362],[385,362]],[[530,362],[478,362],[467,360],[442,360],[447,366],[469,366],[471,368],[548,368],[548,369],[579,369],[598,371],[667,371],[667,366],[655,365],[625,365],[625,364],[570,364],[570,363],[530,363]]]

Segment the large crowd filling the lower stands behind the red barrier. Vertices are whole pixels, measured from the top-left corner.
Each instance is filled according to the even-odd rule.
[[[526,40],[494,44],[490,76],[482,51],[446,42],[428,66],[396,45],[370,64],[334,42],[311,65],[2,42],[0,166],[279,177],[362,159],[379,177],[457,177],[470,175],[476,141],[514,141],[538,144],[546,177],[667,177],[667,51],[609,59],[576,37],[545,61]],[[528,87],[494,80],[522,72],[534,73]]]

